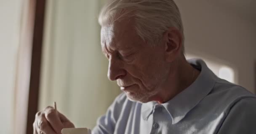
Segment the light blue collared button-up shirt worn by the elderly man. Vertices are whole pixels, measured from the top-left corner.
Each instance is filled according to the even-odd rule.
[[[256,134],[256,96],[222,80],[200,59],[195,82],[170,101],[129,101],[120,94],[93,134]]]

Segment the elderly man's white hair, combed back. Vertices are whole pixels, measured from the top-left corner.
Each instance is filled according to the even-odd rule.
[[[149,44],[159,43],[163,33],[170,27],[184,32],[179,8],[173,0],[108,0],[99,14],[99,24],[106,26],[125,18],[135,19],[137,34]]]

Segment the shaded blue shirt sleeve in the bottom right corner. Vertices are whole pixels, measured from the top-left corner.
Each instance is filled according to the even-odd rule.
[[[218,134],[256,134],[256,98],[243,98],[229,111]]]

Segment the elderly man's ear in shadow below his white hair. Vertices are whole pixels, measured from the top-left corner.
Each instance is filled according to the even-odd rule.
[[[164,33],[163,39],[165,43],[165,60],[173,62],[181,54],[182,34],[177,28],[171,27]]]

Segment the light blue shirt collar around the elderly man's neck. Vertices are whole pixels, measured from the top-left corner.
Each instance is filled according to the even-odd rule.
[[[208,95],[216,81],[216,75],[213,74],[203,60],[189,59],[188,62],[201,69],[199,76],[188,88],[170,101],[161,104],[170,114],[172,124],[181,121],[192,108]],[[142,118],[147,119],[157,104],[155,101],[143,103],[141,107]]]

